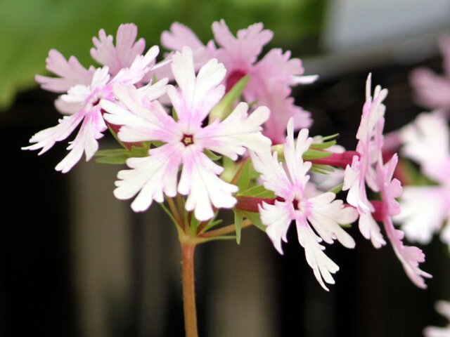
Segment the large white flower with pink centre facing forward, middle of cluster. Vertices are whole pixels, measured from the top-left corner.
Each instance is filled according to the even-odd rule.
[[[259,107],[249,116],[248,105],[240,103],[224,121],[215,120],[203,127],[203,120],[224,95],[225,88],[219,85],[225,77],[224,65],[212,59],[195,77],[193,52],[185,47],[172,56],[171,67],[179,87],[169,86],[167,94],[178,120],[170,117],[158,101],[144,107],[132,86],[116,86],[115,95],[122,105],[101,102],[110,113],[105,119],[122,125],[118,133],[122,141],[164,143],[151,149],[148,157],[127,160],[131,169],[118,173],[115,196],[129,199],[137,194],[131,208],[144,211],[153,200],[164,201],[163,194],[175,197],[179,192],[187,195],[186,210],[195,211],[198,220],[207,220],[214,216],[213,206],[231,208],[236,204],[231,194],[238,187],[218,177],[223,168],[209,159],[205,150],[236,160],[247,148],[269,148],[269,138],[261,133],[269,110]]]

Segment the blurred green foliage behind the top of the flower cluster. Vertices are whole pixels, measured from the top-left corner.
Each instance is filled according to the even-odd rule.
[[[203,42],[212,39],[211,25],[224,18],[231,32],[264,22],[274,31],[271,46],[299,48],[319,35],[326,0],[3,0],[0,1],[0,110],[18,91],[36,86],[34,74],[46,74],[45,58],[55,48],[75,55],[86,67],[94,64],[92,37],[103,28],[134,22],[147,46],[160,44],[160,34],[174,21],[183,22]],[[236,15],[239,13],[239,15]],[[304,51],[304,44],[302,44]],[[294,55],[302,57],[303,55]]]

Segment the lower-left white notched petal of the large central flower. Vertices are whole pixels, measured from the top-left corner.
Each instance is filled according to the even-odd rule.
[[[184,145],[165,144],[150,150],[149,157],[127,159],[129,170],[117,174],[114,195],[117,199],[130,199],[136,212],[146,211],[153,200],[164,201],[164,194],[176,195],[176,182],[179,166],[183,157]]]

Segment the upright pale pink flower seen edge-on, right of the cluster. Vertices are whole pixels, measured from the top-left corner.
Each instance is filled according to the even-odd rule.
[[[371,239],[373,246],[379,248],[386,244],[380,232],[380,226],[375,222],[371,213],[375,211],[367,199],[366,183],[372,190],[378,192],[375,166],[381,155],[381,138],[384,126],[385,105],[383,100],[387,96],[387,89],[375,87],[373,98],[371,95],[371,74],[366,81],[366,103],[364,103],[361,124],[356,139],[356,152],[352,165],[345,169],[342,190],[349,190],[347,202],[356,207],[359,213],[359,230],[366,239]]]

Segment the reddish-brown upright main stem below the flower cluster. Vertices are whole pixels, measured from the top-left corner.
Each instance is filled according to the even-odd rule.
[[[197,311],[195,309],[194,251],[195,244],[181,242],[184,329],[186,337],[198,337]]]

